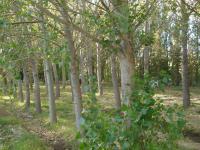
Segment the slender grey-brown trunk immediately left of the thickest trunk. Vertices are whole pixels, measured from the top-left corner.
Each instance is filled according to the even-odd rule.
[[[117,68],[116,68],[115,56],[114,56],[114,54],[112,54],[112,56],[111,56],[112,84],[113,84],[116,108],[120,109],[120,107],[121,107],[121,98],[120,98],[120,91],[119,91],[119,85],[118,85],[118,79],[117,79],[116,70],[117,70]]]

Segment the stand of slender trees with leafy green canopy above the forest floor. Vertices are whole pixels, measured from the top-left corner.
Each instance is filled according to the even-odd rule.
[[[185,0],[1,1],[2,87],[6,91],[18,83],[23,100],[23,80],[29,111],[34,83],[35,110],[40,113],[40,81],[45,81],[54,123],[60,80],[65,88],[69,79],[79,129],[82,94],[91,91],[94,76],[100,95],[103,81],[112,79],[119,109],[132,103],[132,77],[159,78],[165,71],[173,85],[182,81],[187,108],[189,85],[198,85],[200,77],[199,5]]]

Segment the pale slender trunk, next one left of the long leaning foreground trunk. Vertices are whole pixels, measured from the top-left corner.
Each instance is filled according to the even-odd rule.
[[[45,72],[47,77],[48,99],[49,99],[49,119],[51,123],[56,123],[57,117],[56,117],[55,95],[53,88],[53,71],[50,65],[51,63],[48,60],[45,60]]]

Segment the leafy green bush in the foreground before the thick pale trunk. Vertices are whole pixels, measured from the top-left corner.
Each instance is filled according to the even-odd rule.
[[[80,149],[177,149],[176,140],[185,125],[181,110],[153,98],[156,81],[145,77],[134,82],[130,106],[124,105],[119,111],[101,111],[95,101],[89,101],[82,131],[77,135]]]

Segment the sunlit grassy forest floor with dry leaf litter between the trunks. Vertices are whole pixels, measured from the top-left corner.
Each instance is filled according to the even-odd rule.
[[[98,102],[104,109],[113,109],[112,88],[106,86],[104,95],[97,95]],[[182,104],[180,87],[166,88],[158,91],[156,98],[166,105]],[[29,113],[25,113],[24,103],[12,100],[8,96],[0,97],[0,149],[4,150],[45,150],[74,149],[76,136],[73,103],[70,87],[62,89],[61,97],[56,100],[58,123],[51,125],[48,121],[48,102],[45,88],[41,86],[43,112],[35,114],[31,102]],[[83,98],[87,98],[84,96]],[[33,95],[31,95],[33,99]],[[185,111],[187,120],[184,138],[178,141],[180,150],[200,149],[200,89],[191,88],[192,106]],[[12,103],[14,105],[12,105]]]

